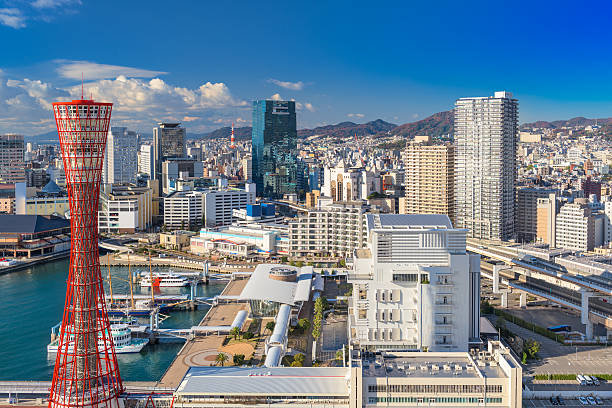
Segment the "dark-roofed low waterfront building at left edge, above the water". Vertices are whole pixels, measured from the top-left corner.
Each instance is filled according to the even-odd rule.
[[[32,258],[70,249],[70,222],[42,215],[0,214],[0,253]]]

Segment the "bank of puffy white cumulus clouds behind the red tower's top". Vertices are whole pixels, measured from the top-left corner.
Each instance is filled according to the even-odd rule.
[[[249,111],[249,105],[220,82],[185,88],[160,78],[119,76],[85,82],[84,89],[86,98],[113,103],[113,124],[138,131],[151,129],[159,121],[182,121],[189,123],[190,132],[199,133],[215,128],[214,119]],[[0,71],[0,133],[35,135],[52,131],[51,103],[80,97],[80,83],[59,88],[40,80],[7,78]]]

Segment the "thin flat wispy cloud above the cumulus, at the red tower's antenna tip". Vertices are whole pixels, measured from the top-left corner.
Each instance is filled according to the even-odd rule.
[[[148,69],[122,67],[119,65],[98,64],[89,61],[65,61],[56,60],[59,66],[57,73],[69,79],[81,80],[81,75],[85,80],[117,78],[120,75],[131,78],[152,78],[166,74],[161,71],[151,71]]]

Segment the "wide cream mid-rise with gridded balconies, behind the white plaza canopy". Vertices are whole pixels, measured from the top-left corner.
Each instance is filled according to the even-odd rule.
[[[332,203],[301,213],[289,223],[289,248],[294,256],[347,257],[367,241],[363,203]]]

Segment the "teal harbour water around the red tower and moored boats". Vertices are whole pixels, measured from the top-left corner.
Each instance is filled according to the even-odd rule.
[[[154,271],[167,268],[154,268]],[[132,272],[148,267],[132,267]],[[54,355],[47,355],[51,327],[62,319],[66,296],[68,259],[37,265],[0,275],[0,380],[51,380]],[[105,286],[108,270],[102,267]],[[128,268],[111,268],[113,293],[129,294]],[[198,287],[198,296],[215,296],[225,283]],[[107,288],[108,291],[108,288]],[[173,292],[174,291],[174,292]],[[163,288],[161,293],[188,293],[188,288]],[[134,293],[149,293],[134,285]],[[161,327],[191,327],[202,319],[207,306],[195,311],[175,311]],[[143,320],[143,324],[147,321]],[[182,343],[146,346],[137,354],[119,354],[119,369],[125,381],[158,380],[174,359]]]

